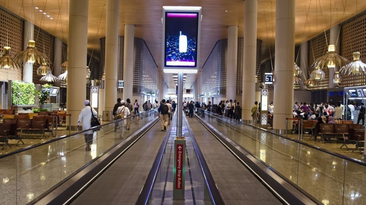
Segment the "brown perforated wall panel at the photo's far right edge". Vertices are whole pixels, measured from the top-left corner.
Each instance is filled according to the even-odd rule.
[[[366,15],[341,27],[341,55],[352,61],[352,53],[360,52],[361,61],[366,62]],[[342,76],[340,87],[366,84],[366,76]]]

